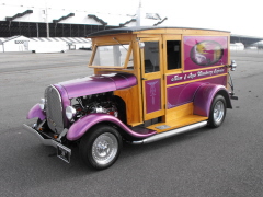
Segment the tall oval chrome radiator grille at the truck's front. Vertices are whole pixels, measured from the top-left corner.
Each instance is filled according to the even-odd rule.
[[[45,91],[45,99],[48,127],[53,131],[60,134],[64,130],[64,117],[60,94],[56,88],[50,85]]]

